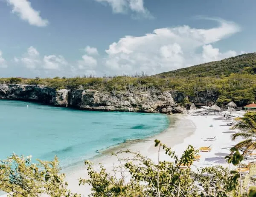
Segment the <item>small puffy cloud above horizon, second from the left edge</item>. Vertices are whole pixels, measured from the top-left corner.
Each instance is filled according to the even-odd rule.
[[[20,59],[26,68],[34,69],[41,62],[39,52],[33,46],[28,48],[28,51]]]

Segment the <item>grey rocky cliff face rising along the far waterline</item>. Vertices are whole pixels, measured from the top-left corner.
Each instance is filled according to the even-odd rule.
[[[81,110],[126,111],[145,113],[184,113],[171,91],[145,90],[143,92],[110,93],[96,90],[55,90],[40,85],[0,84],[0,98],[76,107]],[[178,99],[176,99],[178,100]]]

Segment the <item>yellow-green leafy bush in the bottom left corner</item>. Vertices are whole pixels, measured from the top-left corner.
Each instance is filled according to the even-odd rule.
[[[65,174],[60,174],[57,157],[53,161],[32,163],[31,157],[13,154],[0,161],[0,190],[10,197],[79,197],[67,189]]]

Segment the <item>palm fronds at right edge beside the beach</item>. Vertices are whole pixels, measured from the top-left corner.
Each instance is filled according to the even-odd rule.
[[[234,146],[235,149],[245,148],[243,155],[249,150],[256,149],[256,113],[248,112],[238,119],[239,122],[233,129],[239,129],[241,132],[232,135],[232,140],[241,137],[244,141],[239,142]]]

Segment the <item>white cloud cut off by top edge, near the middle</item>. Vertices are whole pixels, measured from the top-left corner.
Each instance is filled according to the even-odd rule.
[[[131,11],[137,15],[151,18],[150,12],[144,7],[143,0],[96,0],[97,2],[108,3],[114,13],[126,13]],[[135,17],[136,18],[136,17]]]

